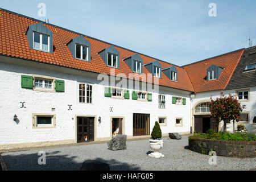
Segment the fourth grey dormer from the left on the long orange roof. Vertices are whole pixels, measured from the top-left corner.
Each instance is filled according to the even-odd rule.
[[[143,59],[138,53],[126,58],[124,61],[134,73],[143,73]]]

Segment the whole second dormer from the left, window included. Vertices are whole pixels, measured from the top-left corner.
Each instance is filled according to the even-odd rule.
[[[71,52],[74,59],[79,59],[83,61],[91,61],[90,49],[91,44],[84,36],[77,36],[71,39],[67,44],[69,51]]]

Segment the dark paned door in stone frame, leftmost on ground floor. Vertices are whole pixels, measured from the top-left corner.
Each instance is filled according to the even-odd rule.
[[[94,117],[77,117],[77,142],[94,141]]]

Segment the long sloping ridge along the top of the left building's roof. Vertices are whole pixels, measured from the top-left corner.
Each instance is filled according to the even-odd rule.
[[[157,58],[155,58],[155,57],[145,55],[145,54],[143,54],[143,53],[141,53],[141,52],[133,51],[133,50],[131,50],[131,49],[128,49],[128,48],[125,48],[125,47],[121,47],[121,46],[117,46],[117,45],[115,45],[115,44],[106,42],[106,41],[104,41],[104,40],[100,40],[100,39],[97,39],[97,38],[93,38],[92,36],[88,36],[88,35],[81,34],[81,33],[79,33],[79,32],[73,31],[73,30],[69,30],[68,28],[63,28],[63,27],[57,26],[57,25],[55,25],[55,24],[46,23],[46,22],[44,22],[43,20],[39,20],[39,19],[36,19],[36,18],[32,18],[32,17],[30,17],[30,16],[26,16],[26,15],[23,15],[23,14],[15,13],[15,12],[10,11],[10,10],[2,9],[1,7],[0,7],[0,9],[3,10],[3,11],[6,11],[6,12],[8,12],[8,13],[11,13],[11,14],[15,14],[15,15],[18,15],[18,16],[22,16],[22,17],[24,17],[24,18],[32,19],[32,20],[35,20],[35,21],[37,21],[37,22],[41,22],[41,23],[44,23],[44,24],[48,24],[49,26],[53,26],[53,27],[60,28],[60,29],[65,30],[65,31],[72,32],[72,33],[74,33],[74,34],[79,34],[79,35],[82,35],[82,36],[86,36],[87,38],[94,39],[94,40],[100,41],[100,42],[102,42],[102,43],[106,43],[106,44],[110,44],[110,45],[115,46],[115,47],[119,47],[119,48],[122,48],[122,49],[126,49],[127,51],[135,52],[135,53],[138,53],[138,54],[140,54],[140,55],[147,56],[147,57],[150,57],[150,58],[152,58],[152,59],[162,61],[163,63],[172,64],[172,63],[170,63],[170,62],[163,61],[163,60],[157,59]],[[172,64],[172,65],[175,65],[175,64]],[[175,65],[175,66],[176,66],[176,67],[183,68],[183,67],[181,67],[181,66],[179,66],[179,65]],[[184,68],[183,68],[183,69],[184,69]]]

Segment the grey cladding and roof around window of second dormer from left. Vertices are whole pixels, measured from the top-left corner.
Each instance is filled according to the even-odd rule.
[[[88,61],[91,61],[91,55],[90,55],[90,50],[91,50],[91,44],[84,38],[84,36],[77,36],[76,38],[71,39],[69,43],[67,44],[72,56],[74,59],[76,59],[76,44],[80,44],[81,46],[86,46],[88,47]]]

